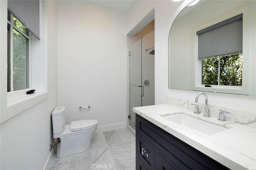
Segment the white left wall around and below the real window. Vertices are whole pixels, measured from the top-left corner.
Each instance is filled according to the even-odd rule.
[[[7,3],[2,10],[2,2],[1,15],[7,12]],[[52,17],[56,16],[54,3],[48,2],[48,98],[1,123],[1,170],[41,170],[51,154],[51,113],[57,106],[57,29],[56,18]],[[6,27],[1,26],[2,29]]]

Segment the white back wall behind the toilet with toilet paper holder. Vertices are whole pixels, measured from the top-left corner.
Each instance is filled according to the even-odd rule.
[[[126,14],[85,1],[58,2],[58,106],[66,123],[126,127]],[[91,106],[80,110],[80,106]]]

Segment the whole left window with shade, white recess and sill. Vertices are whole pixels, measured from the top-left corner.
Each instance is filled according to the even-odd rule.
[[[6,25],[7,19],[8,31],[0,31],[0,73],[6,77],[0,86],[0,123],[48,98],[46,5],[39,0],[1,1],[0,21]],[[31,89],[36,92],[26,94]]]

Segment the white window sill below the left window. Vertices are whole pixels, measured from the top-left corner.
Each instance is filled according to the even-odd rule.
[[[24,94],[16,96],[15,98],[8,98],[7,107],[5,111],[1,114],[1,123],[18,115],[22,111],[32,107],[42,100],[48,98],[48,92],[36,92],[33,94]]]

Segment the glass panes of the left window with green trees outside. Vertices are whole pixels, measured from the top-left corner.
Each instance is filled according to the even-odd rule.
[[[31,33],[8,11],[7,92],[31,86]]]

